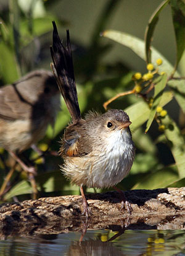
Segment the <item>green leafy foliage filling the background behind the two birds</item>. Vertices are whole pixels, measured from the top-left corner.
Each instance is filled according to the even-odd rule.
[[[92,108],[104,112],[104,102],[121,92],[136,89],[136,86],[140,88],[108,105],[108,108],[121,108],[128,112],[133,121],[131,130],[137,148],[130,175],[119,187],[128,190],[184,185],[183,0],[0,0],[0,13],[1,86],[16,81],[31,70],[50,69],[51,22],[55,20],[60,38],[65,38],[66,29],[70,30],[82,113]],[[152,58],[151,45],[154,47]],[[157,67],[155,61],[158,58],[163,64]],[[154,64],[151,72],[146,69],[150,62]],[[160,75],[162,71],[165,72],[163,76]],[[135,73],[152,72],[156,74],[148,81],[133,79]],[[178,79],[172,79],[171,74]],[[52,151],[59,150],[60,138],[70,120],[62,99],[61,102],[62,110],[54,130],[49,127],[45,138],[38,144],[42,150],[48,145]],[[157,107],[167,110],[164,117],[157,112]],[[158,129],[159,126],[163,129]],[[1,149],[0,153],[6,166],[10,167],[12,160],[7,152]],[[30,159],[37,157],[31,149],[26,153]],[[45,163],[38,159],[35,164],[38,169],[38,196],[79,193],[79,188],[71,185],[61,174],[60,157],[48,155]],[[7,171],[0,161],[0,187]],[[93,189],[87,191],[94,192]],[[5,192],[1,196],[2,201],[31,198],[30,182],[20,168],[17,168]]]

